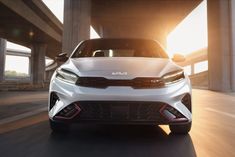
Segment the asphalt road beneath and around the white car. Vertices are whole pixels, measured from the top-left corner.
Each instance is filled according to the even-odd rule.
[[[35,101],[46,106],[46,92],[32,95],[21,95],[21,104]],[[7,96],[0,96],[0,103],[19,103],[16,95]],[[235,93],[194,89],[193,127],[188,135],[172,135],[167,126],[102,125],[74,125],[69,134],[54,134],[47,113],[40,112],[0,125],[0,156],[234,157],[234,128]]]

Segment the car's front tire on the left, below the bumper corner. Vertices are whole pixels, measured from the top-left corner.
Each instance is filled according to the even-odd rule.
[[[53,132],[65,133],[69,131],[69,124],[49,120]]]

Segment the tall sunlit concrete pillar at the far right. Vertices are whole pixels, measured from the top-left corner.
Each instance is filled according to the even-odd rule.
[[[230,2],[207,0],[209,89],[223,92],[232,90]]]

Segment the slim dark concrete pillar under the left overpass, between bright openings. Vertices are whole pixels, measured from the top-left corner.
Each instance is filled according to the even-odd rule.
[[[31,76],[34,84],[44,82],[46,49],[46,44],[34,43],[31,45]]]

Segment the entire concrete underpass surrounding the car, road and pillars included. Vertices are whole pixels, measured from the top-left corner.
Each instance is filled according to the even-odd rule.
[[[48,123],[48,85],[57,65],[45,67],[45,56],[70,54],[89,39],[90,26],[104,38],[151,38],[166,48],[167,35],[202,1],[65,0],[62,24],[41,1],[0,0],[0,156],[234,157],[233,0],[207,0],[208,48],[180,64],[190,66],[192,85],[201,88],[193,89],[188,135],[172,135],[167,126],[92,124],[55,134]],[[6,41],[31,48],[28,80],[4,76],[6,55],[25,55],[7,50]],[[207,60],[208,70],[195,74],[194,65]]]

